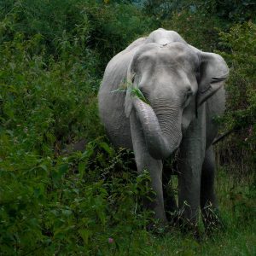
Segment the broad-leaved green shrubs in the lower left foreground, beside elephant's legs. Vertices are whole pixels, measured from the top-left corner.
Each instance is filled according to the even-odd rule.
[[[109,237],[116,249],[127,246],[127,237],[143,236],[150,214],[142,211],[141,197],[150,179],[128,169],[126,154],[97,139],[84,153],[29,155],[23,170],[2,163],[1,252],[96,254],[108,251]]]

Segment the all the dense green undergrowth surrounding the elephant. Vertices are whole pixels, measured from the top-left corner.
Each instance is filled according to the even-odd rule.
[[[0,2],[0,255],[256,253],[252,9],[241,15],[242,6],[227,5],[219,13],[212,1],[212,14],[201,1],[181,1],[155,15],[157,2],[157,12],[129,2]],[[97,116],[109,59],[159,26],[217,51],[230,67],[228,110],[218,121],[223,133],[235,131],[216,145],[226,228],[209,237],[201,226],[201,241],[171,227],[146,230],[148,174],[137,176],[131,152],[113,149]],[[67,150],[81,139],[82,152]]]

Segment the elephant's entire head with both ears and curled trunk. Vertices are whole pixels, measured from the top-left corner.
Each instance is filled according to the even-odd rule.
[[[183,42],[149,43],[137,51],[127,80],[147,102],[127,90],[125,114],[129,117],[135,110],[149,154],[155,159],[172,154],[196,118],[197,108],[224,85],[228,73],[220,55]]]

